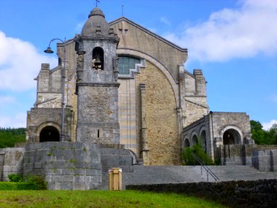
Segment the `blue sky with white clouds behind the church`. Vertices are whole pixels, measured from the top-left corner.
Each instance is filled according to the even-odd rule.
[[[26,127],[43,51],[79,34],[94,0],[1,0],[0,127]],[[100,0],[107,21],[122,16],[188,49],[187,71],[202,69],[213,112],[246,112],[277,123],[276,0]],[[123,8],[123,9],[122,9]],[[52,46],[55,49],[55,45]]]

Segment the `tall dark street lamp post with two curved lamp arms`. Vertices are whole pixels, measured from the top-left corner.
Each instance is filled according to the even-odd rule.
[[[65,84],[65,55],[66,55],[66,38],[64,38],[64,41],[62,41],[60,38],[53,38],[49,44],[47,49],[44,51],[44,53],[54,53],[54,51],[52,51],[50,45],[54,40],[60,40],[60,42],[62,42],[63,44],[63,48],[64,48],[64,58],[63,58],[63,62],[64,62],[64,66],[62,67],[62,130],[60,132],[60,141],[64,141],[64,105],[65,105],[65,101],[64,101],[64,84]],[[73,39],[73,41],[78,42],[79,44],[79,49],[77,51],[78,55],[83,55],[84,53],[86,53],[83,49],[80,49],[80,42],[78,40]]]

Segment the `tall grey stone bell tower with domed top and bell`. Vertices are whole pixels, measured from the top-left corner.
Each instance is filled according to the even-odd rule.
[[[86,53],[78,56],[77,141],[119,144],[118,36],[103,12],[94,8],[78,40]]]

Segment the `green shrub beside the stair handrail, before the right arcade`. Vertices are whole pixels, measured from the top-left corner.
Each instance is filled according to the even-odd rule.
[[[195,144],[192,148],[190,147],[184,148],[181,155],[184,161],[184,164],[188,166],[199,165],[199,162],[197,162],[195,157],[193,157],[193,153],[195,153],[195,155],[197,155],[202,160],[202,162],[204,162],[204,164],[206,165],[214,164],[211,157],[207,153],[205,153],[202,146],[198,144]]]

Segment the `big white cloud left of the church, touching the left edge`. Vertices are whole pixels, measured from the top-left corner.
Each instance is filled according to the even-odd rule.
[[[0,31],[0,90],[22,91],[35,88],[33,78],[39,73],[42,62],[54,65],[57,60],[39,54],[33,44],[6,37]]]

